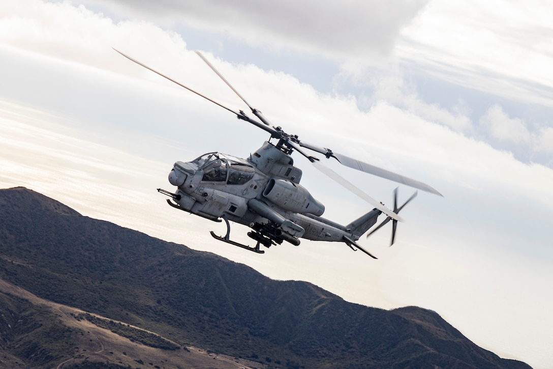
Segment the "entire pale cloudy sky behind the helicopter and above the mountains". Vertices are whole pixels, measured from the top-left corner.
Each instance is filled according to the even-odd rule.
[[[0,187],[213,252],[347,301],[438,312],[501,357],[553,368],[553,4],[539,0],[0,2]],[[219,243],[178,212],[175,161],[247,157],[267,134],[234,110],[430,184],[359,243]],[[347,224],[372,207],[299,155],[301,184]],[[392,206],[397,184],[329,167]],[[413,189],[399,186],[400,202]],[[383,220],[383,218],[382,218]],[[231,237],[248,243],[247,228]]]

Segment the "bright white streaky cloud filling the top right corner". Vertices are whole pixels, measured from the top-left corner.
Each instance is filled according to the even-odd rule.
[[[459,86],[553,106],[550,2],[432,2],[401,32],[397,54]]]

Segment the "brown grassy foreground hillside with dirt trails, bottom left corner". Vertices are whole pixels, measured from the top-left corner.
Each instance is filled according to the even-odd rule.
[[[81,315],[90,316],[0,280],[0,368],[260,367],[257,362],[215,355],[196,347],[175,351],[176,345],[169,342],[173,347],[167,349],[168,341],[150,332],[99,316],[91,316],[96,321],[93,324],[79,319]],[[109,329],[96,325],[97,321]],[[152,336],[156,339],[150,340]],[[165,350],[159,348],[160,341]],[[217,360],[217,365],[213,365],[213,360]]]

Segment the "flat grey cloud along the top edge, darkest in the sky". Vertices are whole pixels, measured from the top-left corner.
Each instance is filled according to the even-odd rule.
[[[116,14],[134,14],[174,28],[175,24],[218,33],[253,46],[295,49],[330,59],[363,58],[389,53],[399,31],[429,0],[341,2],[258,2],[221,0],[158,2],[104,0],[98,4]]]

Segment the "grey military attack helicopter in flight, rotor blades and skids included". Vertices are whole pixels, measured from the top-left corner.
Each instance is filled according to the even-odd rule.
[[[398,188],[396,188],[394,190],[394,208],[393,210],[389,209],[382,202],[368,196],[353,183],[322,164],[320,158],[306,153],[304,148],[318,152],[327,159],[334,158],[342,165],[355,170],[442,196],[440,192],[426,183],[333,152],[330,148],[311,145],[300,140],[298,135],[287,134],[280,126],[273,126],[263,113],[252,107],[200,52],[196,52],[196,54],[238,95],[259,121],[246,115],[243,110],[236,112],[229,109],[119,50],[114,50],[134,63],[232,112],[238,119],[249,122],[270,135],[269,140],[265,141],[248,158],[239,158],[221,152],[209,152],[189,162],[177,161],[169,172],[169,183],[176,186],[176,190],[171,192],[161,188],[157,189],[158,192],[169,197],[166,201],[171,207],[213,222],[225,221],[226,235],[219,236],[213,231],[210,232],[212,237],[217,240],[259,254],[265,252],[261,249],[262,245],[269,248],[288,242],[298,246],[300,238],[342,242],[354,251],[359,249],[377,259],[359,245],[357,240],[377,223],[381,214],[385,214],[387,217],[384,221],[373,228],[367,237],[392,221],[390,246],[394,244],[397,223],[403,221],[398,213],[416,197],[418,192],[415,191],[407,201],[398,206]],[[322,173],[372,204],[374,208],[347,225],[323,218],[324,204],[317,201],[300,184],[302,171],[294,166],[294,160],[291,157],[293,152],[298,152],[307,158]],[[251,228],[252,230],[247,235],[255,241],[255,246],[251,247],[231,240],[230,222]]]

